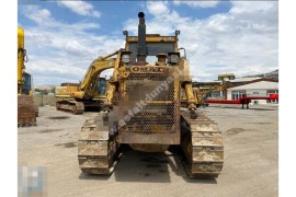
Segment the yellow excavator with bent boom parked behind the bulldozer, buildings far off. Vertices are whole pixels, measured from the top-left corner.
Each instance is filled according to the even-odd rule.
[[[80,83],[61,83],[56,88],[56,108],[73,114],[82,114],[84,109],[100,112],[106,99],[106,80],[100,74],[106,69],[112,69],[119,61],[121,50],[104,57],[99,57],[90,65]],[[112,58],[113,57],[113,58]]]

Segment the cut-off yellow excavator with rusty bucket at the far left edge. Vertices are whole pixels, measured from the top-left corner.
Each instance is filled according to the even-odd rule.
[[[18,126],[36,125],[38,107],[33,101],[32,76],[25,72],[24,62],[27,62],[24,48],[24,30],[18,27]]]

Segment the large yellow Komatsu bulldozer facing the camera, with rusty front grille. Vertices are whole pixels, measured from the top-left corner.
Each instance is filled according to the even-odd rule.
[[[190,65],[178,47],[180,31],[172,36],[146,34],[145,14],[138,18],[138,36],[123,32],[125,48],[114,61],[104,112],[81,128],[79,166],[84,173],[111,174],[122,144],[144,152],[174,146],[183,150],[191,177],[216,177],[224,163],[223,137],[217,124],[196,107]]]

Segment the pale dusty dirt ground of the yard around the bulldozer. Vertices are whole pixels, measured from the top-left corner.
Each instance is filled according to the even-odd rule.
[[[77,139],[94,113],[39,107],[37,126],[18,129],[19,166],[44,166],[47,196],[277,196],[278,105],[210,105],[204,111],[224,136],[225,164],[216,179],[192,179],[174,153],[127,149],[111,176],[81,173]],[[20,179],[20,177],[19,177]]]

